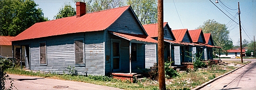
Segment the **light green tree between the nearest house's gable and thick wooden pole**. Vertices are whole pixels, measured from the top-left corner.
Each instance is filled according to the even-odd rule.
[[[128,0],[141,24],[157,23],[157,0]]]

